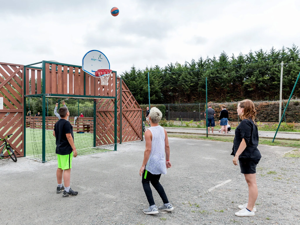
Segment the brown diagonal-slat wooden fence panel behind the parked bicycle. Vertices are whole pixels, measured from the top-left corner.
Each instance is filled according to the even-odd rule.
[[[23,66],[0,62],[0,97],[3,98],[4,103],[3,110],[0,109],[0,137],[13,134],[7,142],[15,150],[17,157],[24,155],[22,89]],[[2,143],[3,141],[0,145]]]

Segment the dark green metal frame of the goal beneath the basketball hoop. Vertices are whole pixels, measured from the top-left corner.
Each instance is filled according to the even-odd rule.
[[[42,63],[42,67],[34,67],[33,65],[36,65],[36,64],[41,64]],[[83,72],[84,74],[84,95],[61,95],[61,94],[49,94],[49,93],[46,93],[46,86],[45,86],[45,83],[43,81],[46,80],[46,70],[45,70],[45,64],[46,63],[50,63],[50,64],[53,64],[52,61],[41,61],[41,62],[37,62],[37,63],[32,63],[32,64],[29,64],[29,65],[24,65],[24,76],[23,76],[23,85],[24,85],[24,88],[23,88],[23,93],[24,93],[24,97],[23,97],[23,102],[24,102],[24,106],[23,106],[23,110],[24,110],[24,115],[26,115],[26,98],[27,97],[30,97],[30,98],[42,98],[42,107],[43,107],[43,112],[42,112],[42,117],[43,117],[43,123],[42,123],[42,127],[43,127],[43,130],[42,130],[42,162],[46,162],[46,143],[45,143],[45,138],[46,138],[46,97],[49,98],[49,97],[66,97],[66,98],[107,98],[107,99],[114,99],[115,100],[115,107],[114,107],[114,116],[115,116],[115,119],[114,119],[114,151],[117,150],[117,72],[116,71],[113,71],[113,73],[116,74],[116,90],[115,90],[115,97],[107,97],[107,96],[91,96],[91,95],[85,95],[86,92],[85,92],[85,72]],[[64,64],[64,63],[58,63],[58,62],[55,62],[55,64],[57,65],[62,65],[62,66],[68,66],[68,67],[79,67],[81,68],[81,66],[78,66],[78,65],[71,65],[71,64]],[[35,94],[35,95],[26,95],[26,69],[42,69],[42,93],[41,94]],[[80,74],[80,73],[79,73]],[[122,80],[121,80],[122,82]],[[121,86],[122,88],[122,86]],[[122,89],[120,90],[120,95],[122,95]],[[122,101],[122,98],[120,99]],[[122,109],[122,108],[121,108]],[[120,116],[121,117],[121,116]],[[26,116],[24,116],[24,124],[26,124]],[[122,124],[120,124],[120,126],[122,126]],[[121,129],[122,130],[122,129]],[[96,147],[96,101],[94,101],[94,147]],[[26,143],[26,126],[23,126],[23,134],[24,134],[24,142]],[[121,134],[122,135],[122,134]],[[122,136],[120,136],[122,137]],[[122,139],[122,138],[121,138]],[[23,149],[23,152],[24,152],[24,157],[26,157],[26,144],[24,144],[24,149]]]

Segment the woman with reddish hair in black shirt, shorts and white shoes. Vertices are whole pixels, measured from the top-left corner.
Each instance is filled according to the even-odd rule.
[[[234,155],[233,164],[241,168],[249,189],[248,202],[239,205],[241,210],[236,212],[236,216],[254,216],[256,208],[254,207],[257,199],[258,190],[256,184],[256,165],[261,155],[258,146],[258,130],[254,122],[256,110],[251,100],[245,99],[238,104],[238,116],[242,119],[235,129],[235,138],[231,155]]]

